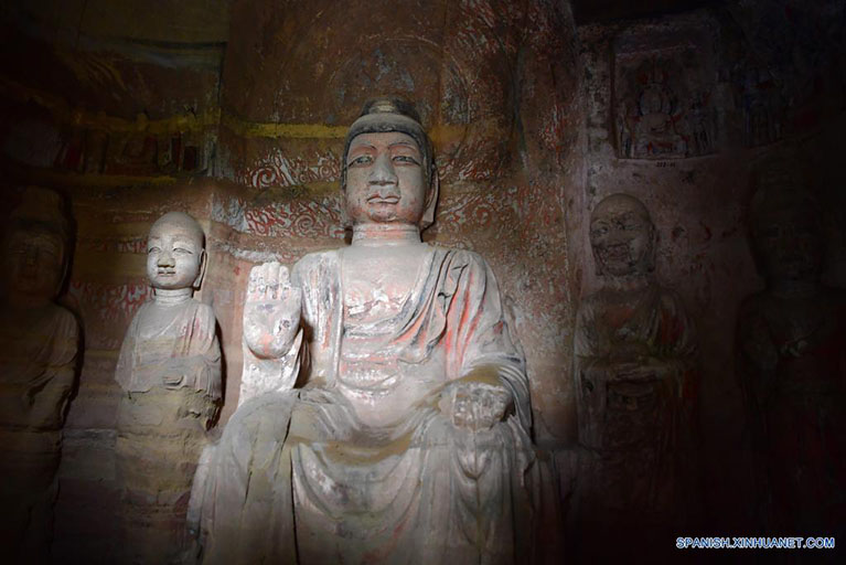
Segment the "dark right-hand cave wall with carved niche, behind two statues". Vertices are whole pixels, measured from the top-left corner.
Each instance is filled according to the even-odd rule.
[[[843,287],[845,178],[832,145],[846,102],[842,6],[728,2],[593,22],[578,35],[587,139],[585,183],[570,186],[581,207],[569,225],[574,284],[580,296],[600,284],[592,207],[617,192],[640,199],[658,231],[658,280],[681,295],[697,330],[706,518],[742,529],[756,518],[735,332],[742,299],[764,288],[749,202],[761,167],[794,163],[828,211],[825,279]],[[652,93],[663,106],[646,108]]]

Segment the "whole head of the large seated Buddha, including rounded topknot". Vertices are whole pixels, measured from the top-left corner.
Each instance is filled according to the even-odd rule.
[[[422,230],[435,221],[435,156],[410,103],[386,97],[364,105],[346,135],[341,188],[353,227]]]

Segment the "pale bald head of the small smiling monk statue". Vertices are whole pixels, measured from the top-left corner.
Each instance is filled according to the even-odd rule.
[[[200,288],[205,273],[205,234],[182,212],[168,212],[147,238],[147,277],[156,289]]]

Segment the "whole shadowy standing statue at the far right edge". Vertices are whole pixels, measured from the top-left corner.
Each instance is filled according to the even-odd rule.
[[[795,172],[769,163],[758,183],[751,239],[767,288],[743,301],[738,322],[757,510],[772,531],[842,534],[846,294],[821,282],[822,214]]]

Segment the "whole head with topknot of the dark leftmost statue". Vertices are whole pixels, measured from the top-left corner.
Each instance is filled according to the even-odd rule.
[[[43,306],[58,296],[71,244],[71,224],[62,204],[58,193],[30,186],[9,216],[3,274],[11,306]]]

